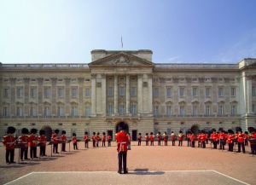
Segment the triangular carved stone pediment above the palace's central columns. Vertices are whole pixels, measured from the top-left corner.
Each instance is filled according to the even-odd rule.
[[[89,66],[153,66],[153,63],[136,55],[120,52],[92,61],[89,63]]]

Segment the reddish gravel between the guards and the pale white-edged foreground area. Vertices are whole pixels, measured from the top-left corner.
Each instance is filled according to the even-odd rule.
[[[156,142],[155,142],[156,144]],[[168,143],[169,144],[169,143]],[[235,177],[243,182],[256,185],[256,156],[248,153],[230,153],[209,148],[192,147],[137,147],[132,142],[128,152],[129,171],[201,171],[214,170]],[[61,145],[59,146],[60,150]],[[67,145],[68,150],[68,145]],[[79,143],[79,150],[50,156],[50,146],[47,147],[48,157],[26,161],[24,165],[6,165],[5,149],[0,147],[0,183],[10,182],[32,171],[117,171],[117,152],[113,147],[84,149],[84,142]],[[15,151],[15,161],[18,159]]]

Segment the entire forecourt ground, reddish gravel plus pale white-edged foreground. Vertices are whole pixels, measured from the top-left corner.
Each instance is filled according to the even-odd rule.
[[[155,142],[156,144],[156,142]],[[208,148],[154,146],[137,147],[128,153],[128,175],[117,171],[117,152],[113,147],[84,149],[26,161],[5,164],[0,147],[0,184],[255,184],[256,156]],[[61,145],[59,146],[60,150]],[[68,144],[67,144],[68,151]],[[15,151],[15,161],[18,159]]]

